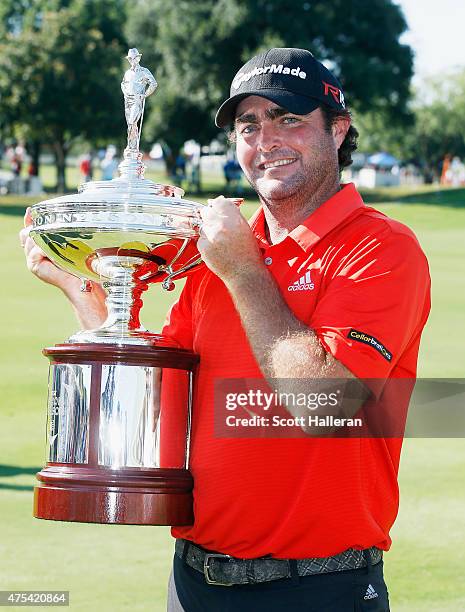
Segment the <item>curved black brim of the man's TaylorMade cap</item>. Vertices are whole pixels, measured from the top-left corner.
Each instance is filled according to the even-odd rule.
[[[226,127],[234,122],[236,117],[236,107],[241,100],[248,98],[249,96],[260,96],[266,98],[275,104],[278,104],[282,108],[286,108],[290,113],[295,115],[308,115],[321,104],[320,100],[316,98],[308,98],[299,94],[292,93],[290,91],[279,90],[279,89],[258,89],[257,91],[248,91],[241,94],[231,96],[223,102],[218,109],[215,117],[215,124],[217,127]]]

